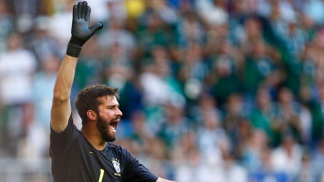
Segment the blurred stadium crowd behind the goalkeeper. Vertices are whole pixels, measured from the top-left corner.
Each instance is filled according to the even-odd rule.
[[[75,3],[0,0],[0,182],[52,182],[52,92]],[[177,182],[324,182],[324,0],[88,4],[104,28],[71,100],[119,88],[114,144]]]

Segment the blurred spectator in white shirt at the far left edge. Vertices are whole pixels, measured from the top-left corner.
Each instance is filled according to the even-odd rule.
[[[24,49],[22,37],[11,33],[8,37],[8,51],[0,55],[0,100],[6,117],[2,123],[6,128],[2,133],[3,145],[15,156],[17,142],[26,132],[31,122],[28,117],[32,107],[32,76],[36,70],[34,55]],[[1,137],[1,138],[2,138]]]

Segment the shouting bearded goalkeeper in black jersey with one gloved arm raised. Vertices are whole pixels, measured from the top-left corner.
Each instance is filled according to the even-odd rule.
[[[117,89],[95,85],[81,91],[75,101],[82,119],[73,124],[70,93],[83,44],[103,27],[89,27],[87,2],[73,6],[72,36],[54,86],[51,109],[50,156],[54,182],[170,182],[152,174],[116,139],[119,110]]]

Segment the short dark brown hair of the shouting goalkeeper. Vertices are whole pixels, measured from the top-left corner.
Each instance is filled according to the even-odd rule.
[[[98,97],[112,95],[118,100],[119,94],[117,91],[117,88],[109,88],[103,84],[97,84],[83,89],[75,100],[75,107],[82,119],[82,125],[88,122],[88,110],[93,110],[98,113],[98,106],[101,104]]]

